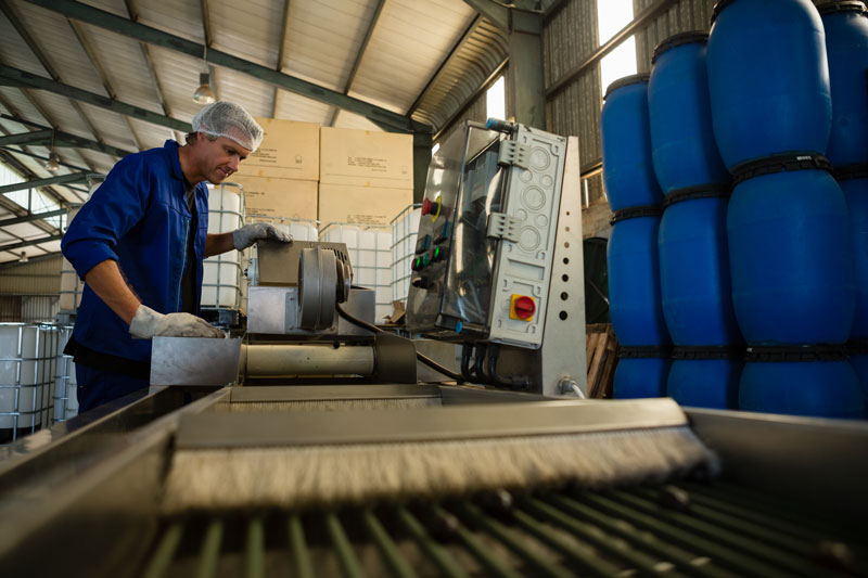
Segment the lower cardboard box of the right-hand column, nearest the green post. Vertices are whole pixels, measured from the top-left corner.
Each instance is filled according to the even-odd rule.
[[[317,218],[323,227],[330,222],[388,227],[392,219],[412,202],[412,187],[381,189],[320,183]]]

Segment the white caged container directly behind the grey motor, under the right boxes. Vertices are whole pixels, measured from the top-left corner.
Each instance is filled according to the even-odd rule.
[[[345,243],[353,265],[353,285],[374,290],[374,319],[382,323],[392,314],[392,232],[387,229],[331,222],[319,240]]]

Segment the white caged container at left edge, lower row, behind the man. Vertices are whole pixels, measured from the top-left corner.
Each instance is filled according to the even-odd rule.
[[[0,323],[0,429],[12,439],[51,425],[58,341],[53,325]]]

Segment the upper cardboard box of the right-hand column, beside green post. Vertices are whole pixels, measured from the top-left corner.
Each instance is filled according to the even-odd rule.
[[[327,184],[412,189],[413,138],[323,127],[319,180]]]

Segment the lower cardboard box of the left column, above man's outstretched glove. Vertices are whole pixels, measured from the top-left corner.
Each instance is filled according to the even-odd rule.
[[[232,176],[244,188],[248,217],[317,218],[317,181]]]

